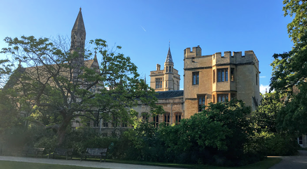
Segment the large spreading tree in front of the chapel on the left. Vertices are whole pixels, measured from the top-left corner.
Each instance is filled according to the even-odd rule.
[[[78,118],[94,122],[103,118],[119,126],[127,123],[130,108],[138,102],[148,105],[153,114],[162,111],[155,104],[155,91],[139,79],[130,58],[116,52],[120,46],[109,51],[106,41],[96,39],[89,42],[93,50],[71,52],[69,43],[60,37],[7,37],[5,42],[8,47],[1,53],[21,62],[5,89],[14,89],[20,111],[35,115],[38,124],[57,132],[58,145],[64,142],[66,128]],[[100,69],[76,62],[81,55],[93,58],[94,50],[101,57]]]

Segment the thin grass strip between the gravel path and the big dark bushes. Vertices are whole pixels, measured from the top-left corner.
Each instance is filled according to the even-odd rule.
[[[224,167],[224,166],[211,166],[211,165],[200,165],[200,164],[173,164],[164,162],[147,162],[147,161],[128,161],[128,160],[107,160],[108,162],[116,163],[128,163],[128,164],[140,164],[140,165],[155,165],[155,166],[167,166],[167,167],[177,167],[177,168],[195,168],[195,169],[267,169],[274,164],[281,161],[280,158],[266,158],[263,161],[256,162],[250,165],[244,165],[239,167]]]

